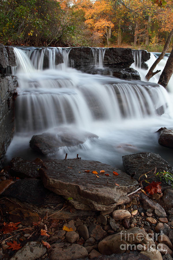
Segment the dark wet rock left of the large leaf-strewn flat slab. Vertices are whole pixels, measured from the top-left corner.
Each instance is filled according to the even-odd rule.
[[[24,160],[20,157],[15,157],[10,162],[12,176],[24,178],[40,179],[38,169],[41,168],[39,164]]]

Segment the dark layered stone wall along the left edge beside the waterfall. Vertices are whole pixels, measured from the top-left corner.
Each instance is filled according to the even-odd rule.
[[[16,77],[6,74],[11,66],[16,66],[13,48],[0,44],[0,168],[14,133]]]

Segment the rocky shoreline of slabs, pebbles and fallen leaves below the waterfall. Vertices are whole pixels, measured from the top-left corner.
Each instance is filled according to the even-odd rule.
[[[133,156],[143,156],[151,162],[151,156],[158,156],[155,154],[146,155],[147,153],[141,153],[141,155]],[[63,169],[66,172],[66,180],[62,180],[60,174],[62,171],[60,161],[61,164],[64,163],[63,167],[68,165],[65,170]],[[46,260],[172,259],[172,186],[162,183],[161,192],[146,195],[142,192],[143,190],[139,187],[138,182],[124,173],[129,176],[129,180],[133,180],[134,186],[131,190],[128,186],[128,192],[125,192],[121,171],[116,169],[114,174],[113,169],[109,168],[110,166],[100,163],[99,167],[100,169],[104,167],[104,172],[99,172],[96,167],[98,165],[93,161],[91,164],[87,164],[88,168],[82,172],[81,169],[85,162],[82,161],[79,158],[64,159],[48,161],[46,164],[38,158],[34,162],[14,158],[11,166],[4,167],[1,170],[0,258],[2,260],[19,260],[26,259],[27,256],[27,259]],[[54,185],[55,180],[48,181],[52,176],[48,174],[49,167],[52,167],[50,162],[55,164],[52,172],[56,172],[60,178],[61,189],[59,188],[59,192]],[[159,160],[157,162],[159,163]],[[93,173],[94,171],[89,171],[92,164],[97,170],[97,174]],[[36,172],[39,173],[37,176],[29,176],[29,168],[33,173],[31,165],[37,169]],[[72,167],[69,167],[69,165]],[[81,167],[80,171],[77,166]],[[151,165],[151,167],[153,166]],[[84,168],[86,167],[84,166]],[[168,170],[170,169],[168,168]],[[79,185],[78,188],[76,186],[76,191],[79,192],[80,190],[80,196],[76,195],[76,197],[72,188],[73,179],[70,176],[74,175],[75,171],[78,179],[80,179],[78,182],[75,180],[76,184]],[[144,169],[141,171],[144,171]],[[86,179],[82,181],[84,175]],[[56,179],[56,176],[53,176]],[[35,179],[35,177],[38,179]],[[47,181],[45,181],[45,177]],[[99,197],[99,189],[102,190],[101,183],[104,177],[108,179],[108,183],[114,183],[116,190],[112,190],[112,192],[115,195],[121,194],[122,200],[120,203],[112,205],[112,201],[106,194],[109,190],[108,186],[104,184],[105,197],[108,202],[110,200],[109,203],[112,206],[107,207],[107,210],[98,210],[98,201],[99,205],[106,203]],[[95,196],[92,201],[98,200],[97,203],[90,202],[93,205],[91,208],[87,203],[90,195],[84,192],[85,189],[81,193],[81,185],[84,185],[84,181],[91,185],[92,196]],[[64,186],[65,183],[68,183],[68,187]],[[51,188],[50,185],[53,185],[54,188]],[[90,186],[88,186],[88,183],[86,185],[89,190]],[[103,196],[103,192],[101,193]],[[70,194],[72,195],[70,196]],[[82,196],[84,199],[81,201]],[[74,200],[76,202],[72,203]],[[85,208],[81,207],[81,202]],[[10,223],[11,229],[9,229]],[[15,226],[13,223],[16,223],[15,229],[13,229]],[[16,250],[14,244],[17,245]]]

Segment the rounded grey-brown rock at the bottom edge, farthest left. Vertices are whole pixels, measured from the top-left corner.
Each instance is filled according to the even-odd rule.
[[[40,258],[46,253],[46,247],[40,242],[27,242],[25,246],[20,248],[13,256],[11,260],[35,260]]]

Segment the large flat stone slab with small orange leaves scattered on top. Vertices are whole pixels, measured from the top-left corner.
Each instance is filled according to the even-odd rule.
[[[101,170],[105,173],[100,173]],[[39,174],[47,189],[98,211],[128,201],[126,195],[138,187],[138,182],[125,172],[99,161],[51,160],[42,164]]]

